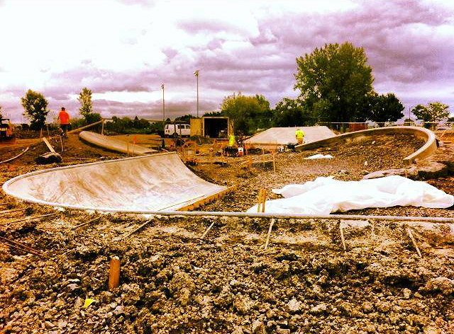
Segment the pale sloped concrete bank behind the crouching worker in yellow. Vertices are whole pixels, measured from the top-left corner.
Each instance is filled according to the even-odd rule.
[[[325,126],[317,127],[271,127],[255,134],[244,142],[248,145],[287,145],[297,144],[295,132],[301,129],[304,132],[304,142],[311,143],[321,139],[336,137],[336,134]]]

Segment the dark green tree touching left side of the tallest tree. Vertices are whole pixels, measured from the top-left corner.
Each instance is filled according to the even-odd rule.
[[[283,98],[273,110],[273,125],[277,127],[311,126],[316,120],[298,99]]]

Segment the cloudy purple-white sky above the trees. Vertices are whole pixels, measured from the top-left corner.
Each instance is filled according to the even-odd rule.
[[[346,41],[377,92],[454,112],[450,1],[0,0],[0,32],[0,105],[16,122],[28,89],[77,116],[83,87],[104,117],[160,119],[162,83],[166,117],[195,115],[196,69],[200,113],[238,91],[274,106],[298,95],[297,57]]]

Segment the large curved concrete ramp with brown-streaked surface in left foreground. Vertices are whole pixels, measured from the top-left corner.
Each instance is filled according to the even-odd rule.
[[[187,209],[230,190],[199,178],[175,152],[36,171],[3,189],[41,205],[131,213]]]

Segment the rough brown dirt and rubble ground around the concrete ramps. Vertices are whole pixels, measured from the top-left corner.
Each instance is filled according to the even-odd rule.
[[[52,142],[61,151],[60,140]],[[199,208],[244,211],[260,188],[317,176],[360,180],[421,146],[408,135],[380,136],[301,153],[276,155],[276,171],[249,157],[222,158],[204,146],[193,171],[236,192]],[[0,165],[0,183],[52,166],[118,159],[65,139],[63,163],[38,166],[43,143]],[[23,146],[0,147],[0,161]],[[195,153],[195,152],[194,152]],[[303,160],[312,154],[330,160]],[[187,156],[187,154],[185,154]],[[270,155],[252,156],[253,162]],[[219,165],[214,161],[226,161]],[[453,194],[450,177],[429,183]],[[277,197],[270,195],[270,197]],[[153,217],[57,212],[0,195],[0,236],[38,250],[0,243],[0,333],[454,333],[454,230],[447,224],[344,221],[343,251],[335,220],[280,220],[265,249],[267,219]],[[28,217],[55,214],[36,220]],[[451,209],[392,207],[348,214],[453,217]],[[205,238],[201,235],[214,223]],[[109,292],[109,260],[121,260],[121,284]],[[93,304],[83,307],[85,299]],[[3,331],[3,332],[2,332]]]

